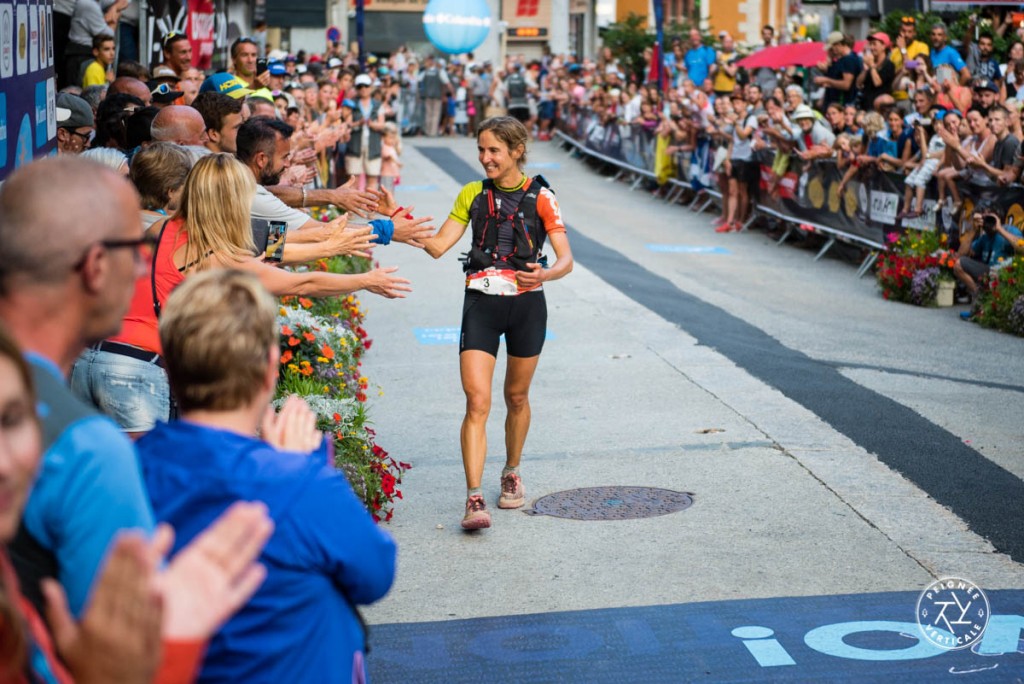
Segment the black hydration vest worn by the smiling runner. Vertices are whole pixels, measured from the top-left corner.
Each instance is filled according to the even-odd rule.
[[[543,188],[550,188],[544,176],[534,176],[525,188],[519,206],[511,214],[501,214],[495,202],[495,181],[483,180],[483,202],[480,196],[473,202],[470,221],[473,224],[473,246],[463,259],[467,273],[490,268],[498,263],[498,229],[505,221],[512,222],[513,249],[504,258],[516,270],[529,270],[527,263],[543,263],[541,250],[548,236],[544,221],[537,213],[537,197]],[[500,190],[499,190],[500,191]]]

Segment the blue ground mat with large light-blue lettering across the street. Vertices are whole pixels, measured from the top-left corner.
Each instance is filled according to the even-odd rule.
[[[981,640],[922,637],[918,592],[751,599],[375,625],[378,682],[1017,681],[1024,591],[987,592]]]

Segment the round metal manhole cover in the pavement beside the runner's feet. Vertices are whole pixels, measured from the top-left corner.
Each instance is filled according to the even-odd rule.
[[[693,495],[649,486],[593,486],[556,491],[534,502],[529,515],[573,520],[652,518],[693,505]]]

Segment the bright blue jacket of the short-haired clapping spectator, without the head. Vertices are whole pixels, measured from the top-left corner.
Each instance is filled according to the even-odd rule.
[[[352,682],[366,677],[364,634],[350,602],[372,603],[394,580],[395,545],[345,476],[311,456],[184,421],[137,443],[157,519],[174,552],[236,501],[261,501],[274,531],[267,575],[211,639],[200,682]]]

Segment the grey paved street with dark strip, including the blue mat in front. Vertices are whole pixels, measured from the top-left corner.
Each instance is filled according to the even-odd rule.
[[[406,141],[398,201],[444,220],[475,142]],[[366,296],[380,443],[413,464],[399,568],[366,611],[376,682],[1021,681],[1024,340],[886,302],[840,259],[716,234],[554,143],[530,148],[577,258],[546,286],[527,507],[596,486],[691,493],[585,521],[494,508],[460,526],[458,252],[378,250],[414,293]],[[484,494],[504,463],[501,378]],[[987,592],[980,648],[929,650],[915,604]],[[1018,617],[1014,617],[1018,616]],[[954,675],[957,675],[954,677]]]

